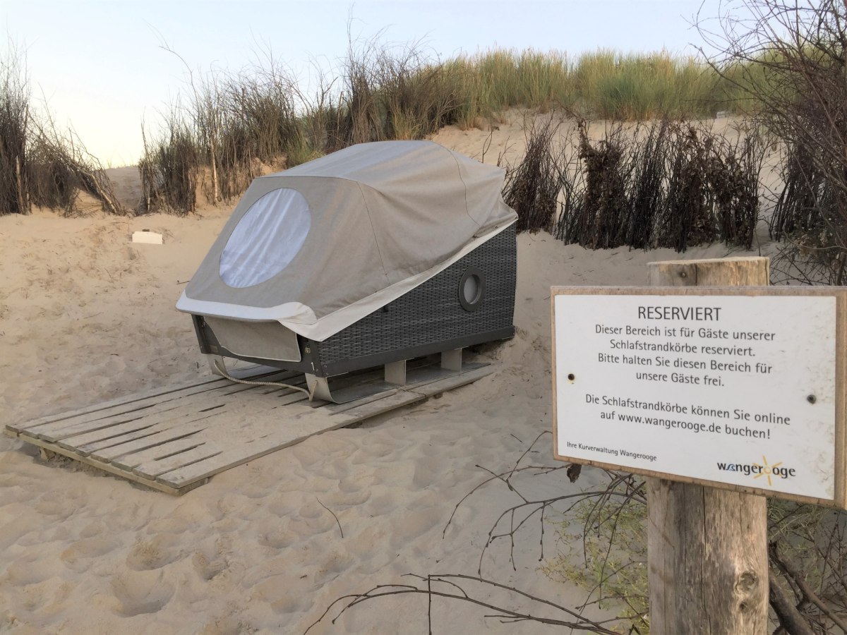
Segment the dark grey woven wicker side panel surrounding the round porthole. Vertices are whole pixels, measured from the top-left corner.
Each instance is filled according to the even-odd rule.
[[[512,225],[406,295],[318,343],[320,362],[327,364],[511,327],[516,260]],[[476,311],[466,311],[459,302],[459,280],[470,267],[484,274],[484,298]]]

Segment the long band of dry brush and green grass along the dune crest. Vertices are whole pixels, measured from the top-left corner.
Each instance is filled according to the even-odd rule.
[[[508,108],[617,120],[701,118],[727,109],[728,93],[737,90],[708,66],[667,52],[600,50],[571,59],[492,49],[441,61],[415,44],[377,40],[352,42],[335,77],[318,85],[307,97],[273,59],[192,79],[180,96],[184,107],[171,109],[142,159],[145,190],[155,195],[146,197],[148,209],[194,209],[187,192],[169,200],[173,184],[187,183],[186,170],[208,174],[200,189],[216,203],[240,196],[257,162],[291,167],[355,143],[423,139],[448,124],[481,127]],[[169,140],[179,147],[168,150]],[[180,174],[166,174],[177,167]]]

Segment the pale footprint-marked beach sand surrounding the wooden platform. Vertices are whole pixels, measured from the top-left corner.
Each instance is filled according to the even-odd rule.
[[[512,163],[525,145],[523,120],[515,114],[493,131],[448,128],[435,141]],[[119,192],[134,204],[131,170],[118,175]],[[191,319],[174,303],[231,209],[205,206],[187,218],[0,217],[2,422],[208,377]],[[162,234],[163,245],[133,244],[141,229]],[[762,254],[771,248],[763,243]],[[518,334],[485,352],[493,375],[235,467],[181,497],[0,437],[0,632],[302,633],[335,599],[407,583],[406,574],[475,576],[492,524],[517,494],[488,483],[449,521],[489,471],[511,468],[551,430],[551,285],[643,285],[647,262],[728,254],[722,245],[586,251],[544,233],[520,235]],[[523,461],[556,466],[551,436]],[[521,483],[540,498],[599,479],[584,469],[570,483],[560,470]],[[529,522],[517,538],[514,568],[504,538],[485,552],[484,577],[582,604],[584,589],[540,572],[540,541],[545,559],[562,548],[555,527],[548,523],[541,538],[539,522]],[[333,623],[335,613],[310,632],[427,632],[424,595],[374,599]],[[433,632],[551,632],[489,613],[434,599]]]

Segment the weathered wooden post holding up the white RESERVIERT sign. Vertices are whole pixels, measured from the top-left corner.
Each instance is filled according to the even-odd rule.
[[[650,262],[651,286],[767,286],[767,258]],[[647,479],[652,635],[767,632],[763,496]]]

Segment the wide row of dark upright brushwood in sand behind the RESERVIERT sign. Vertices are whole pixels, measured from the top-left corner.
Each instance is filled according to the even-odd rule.
[[[562,171],[561,240],[591,249],[685,251],[716,240],[750,248],[763,159],[756,130],[742,126],[732,141],[705,125],[658,120],[615,126],[595,143],[584,122],[577,131],[576,169]]]

